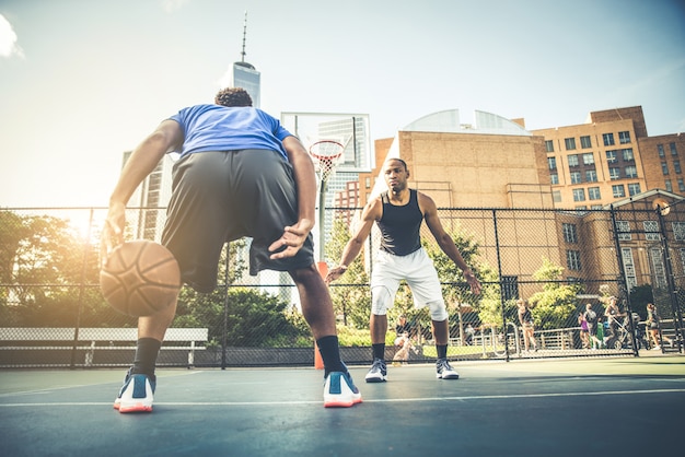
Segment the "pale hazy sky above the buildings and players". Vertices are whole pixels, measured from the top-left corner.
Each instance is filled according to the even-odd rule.
[[[373,141],[444,109],[535,130],[640,105],[685,131],[683,0],[0,0],[0,207],[106,207],[124,151],[213,101],[245,13],[275,117],[368,114]]]

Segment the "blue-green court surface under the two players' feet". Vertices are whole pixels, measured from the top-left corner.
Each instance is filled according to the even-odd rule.
[[[112,408],[124,370],[0,371],[1,456],[685,455],[685,356],[457,362],[350,372],[323,407],[314,368],[158,370],[154,410]]]

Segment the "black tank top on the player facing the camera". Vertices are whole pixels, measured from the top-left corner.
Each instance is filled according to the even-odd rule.
[[[421,248],[420,228],[423,213],[419,208],[417,191],[409,189],[409,202],[402,207],[392,204],[387,192],[381,195],[383,215],[378,222],[381,230],[381,249],[395,256],[406,256]]]

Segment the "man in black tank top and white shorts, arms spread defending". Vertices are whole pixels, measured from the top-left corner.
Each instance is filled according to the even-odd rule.
[[[427,195],[408,188],[407,164],[402,159],[388,159],[383,166],[383,176],[388,191],[367,203],[357,232],[342,250],[340,265],[328,271],[326,282],[335,281],[347,270],[361,251],[375,222],[382,241],[371,277],[370,327],[373,364],[367,374],[367,383],[387,380],[386,312],[393,306],[402,280],[409,285],[415,306],[428,306],[430,309],[438,351],[436,376],[441,379],[457,379],[458,374],[448,361],[450,330],[440,280],[432,260],[421,247],[420,227],[423,221],[443,253],[463,271],[473,293],[480,293],[480,283],[464,261],[452,237],[442,227],[434,201]]]

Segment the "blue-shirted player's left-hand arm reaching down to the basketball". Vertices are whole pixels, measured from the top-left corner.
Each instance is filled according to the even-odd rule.
[[[114,247],[124,243],[126,203],[142,180],[158,166],[164,154],[183,144],[183,130],[174,120],[164,120],[136,149],[126,162],[109,197],[109,210],[101,241],[101,262]]]

